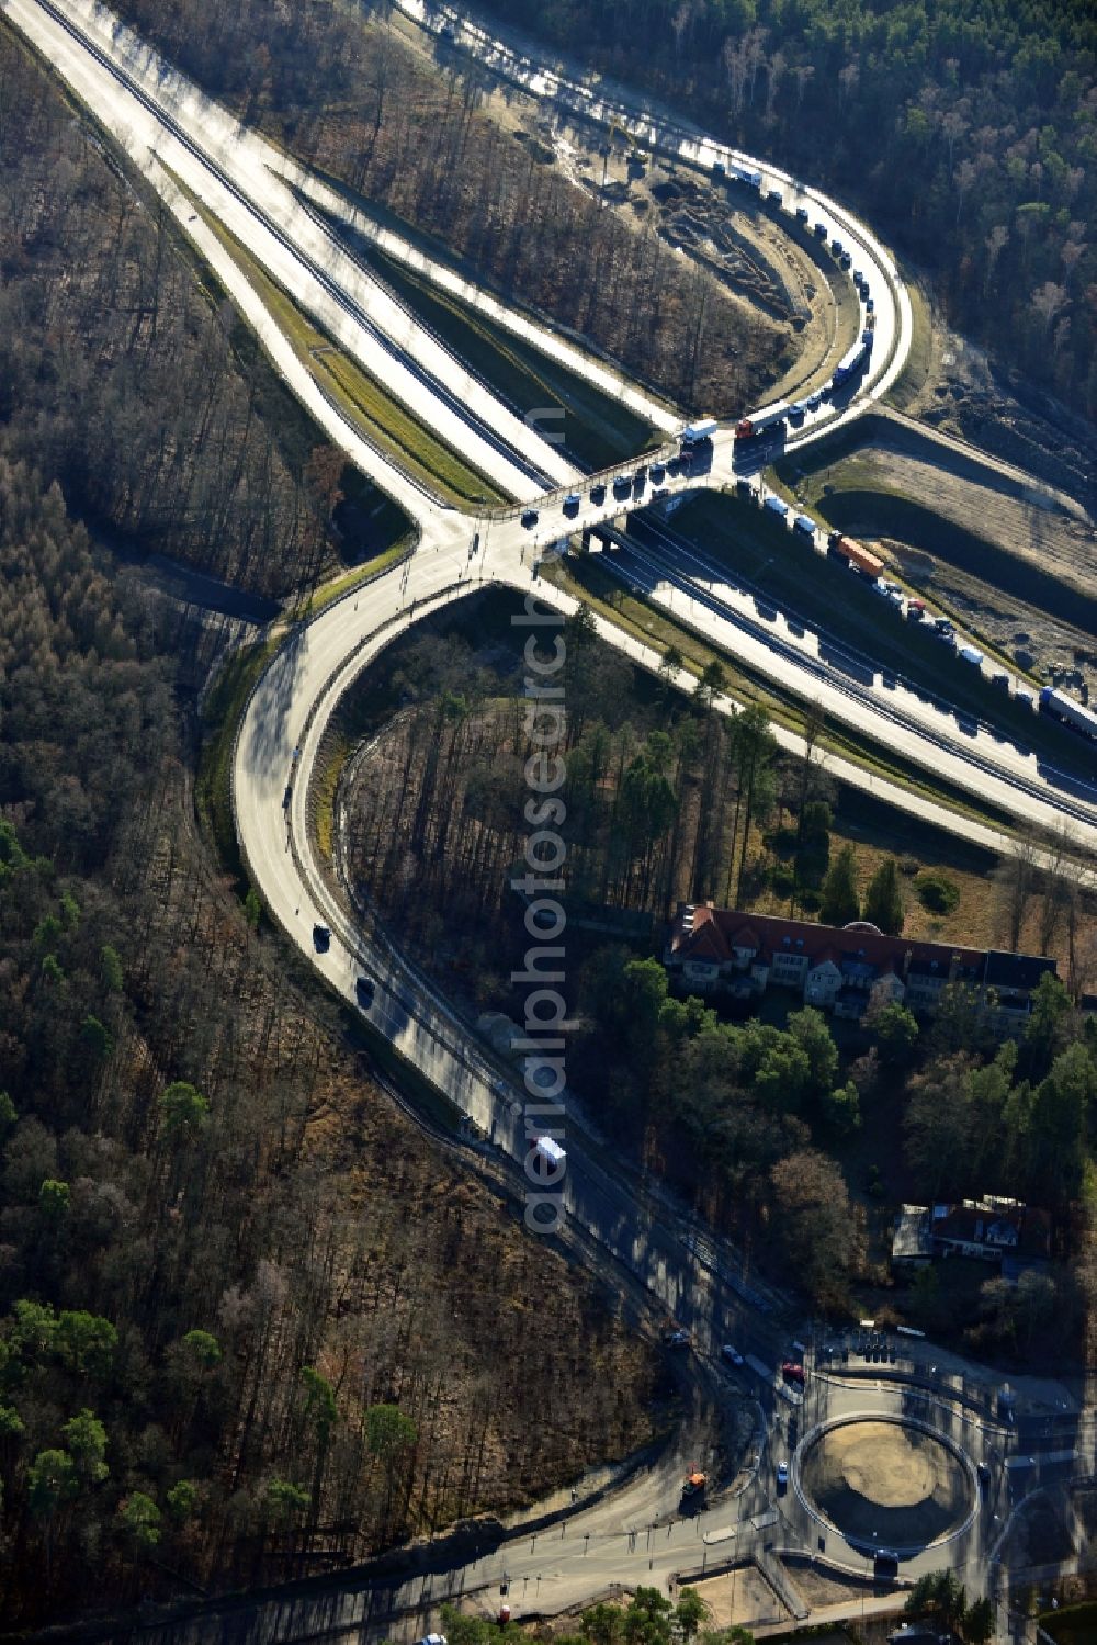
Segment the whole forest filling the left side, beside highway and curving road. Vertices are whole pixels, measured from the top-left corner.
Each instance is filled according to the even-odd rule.
[[[15,1625],[298,1574],[530,1499],[650,1434],[653,1370],[378,1089],[212,865],[178,625],[97,533],[308,582],[327,553],[309,439],[283,449],[263,368],[7,33],[0,87]]]

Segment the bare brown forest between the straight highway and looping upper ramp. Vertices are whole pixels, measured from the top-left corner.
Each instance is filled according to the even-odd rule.
[[[390,28],[334,7],[211,15],[201,0],[171,12],[125,0],[118,12],[303,160],[671,396],[738,411],[791,347],[788,329],[516,141],[484,112],[474,64],[436,71]]]

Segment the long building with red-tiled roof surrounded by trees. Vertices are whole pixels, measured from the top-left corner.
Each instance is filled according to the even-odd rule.
[[[962,982],[1002,1040],[1023,1031],[1033,989],[1056,969],[1053,959],[1028,954],[885,936],[863,920],[822,926],[712,903],[679,903],[663,964],[687,994],[752,1000],[775,984],[854,1022],[873,999],[933,1017],[946,985]]]

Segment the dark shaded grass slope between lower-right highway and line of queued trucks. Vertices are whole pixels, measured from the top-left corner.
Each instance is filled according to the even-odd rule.
[[[863,494],[854,495],[860,498]],[[837,494],[827,497],[826,512],[834,525],[845,526],[844,510],[835,508],[835,502]],[[933,515],[928,520],[934,530],[946,525]],[[799,612],[808,627],[824,630],[868,658],[886,660],[888,668],[910,679],[931,681],[934,694],[962,714],[992,722],[1020,745],[1044,753],[1066,770],[1079,768],[1084,750],[1076,737],[995,689],[985,674],[934,638],[928,625],[905,622],[863,579],[817,554],[783,523],[766,520],[765,510],[730,494],[704,494],[678,510],[674,530],[732,574],[758,587],[778,609]],[[903,530],[883,535],[911,541]],[[980,643],[985,645],[982,635]],[[993,648],[990,651],[1000,656]],[[1000,660],[1016,673],[1011,661]]]

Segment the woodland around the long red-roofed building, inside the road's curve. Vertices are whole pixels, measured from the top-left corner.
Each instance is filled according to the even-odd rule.
[[[357,711],[345,706],[349,740],[355,712],[368,712],[372,732],[344,778],[354,893],[470,1023],[482,1012],[521,1020],[513,974],[530,948],[511,882],[525,873],[526,762],[541,742],[530,740],[526,668],[505,643],[507,622],[502,595],[485,595],[479,614],[439,617],[434,633],[382,660]],[[900,867],[883,860],[860,895],[852,846],[831,849],[832,804],[849,796],[817,762],[778,757],[758,707],[714,712],[719,665],[686,702],[668,684],[673,653],[663,679],[646,679],[597,640],[586,610],[564,623],[564,646],[566,725],[549,753],[566,763],[553,824],[567,847],[569,1087],[618,1148],[671,1176],[817,1303],[855,1308],[863,1286],[878,1286],[875,1311],[997,1357],[1039,1355],[1054,1314],[1062,1336],[1048,1362],[1061,1367],[1097,1300],[1079,1202],[1097,1140],[1097,1064],[1064,982],[1044,979],[1005,1046],[959,984],[931,1022],[880,994],[859,1026],[780,989],[761,1003],[725,1000],[719,1015],[707,999],[674,997],[658,956],[679,898],[753,908],[763,888],[780,888],[785,910],[898,936]],[[821,730],[812,721],[809,739]],[[1041,951],[1056,921],[1087,921],[1066,860],[1039,885],[1031,852],[1000,872],[1015,931],[1026,911],[1044,916]],[[498,1015],[480,1026],[507,1041]],[[1054,1211],[1069,1265],[1020,1296],[1002,1281],[969,1295],[896,1291],[895,1204],[987,1191]]]

